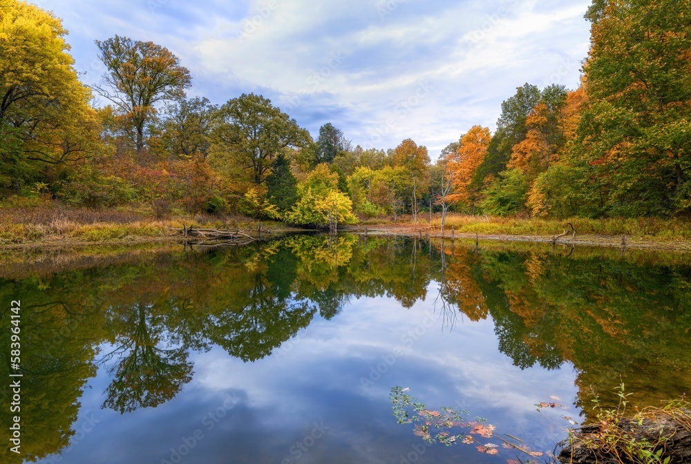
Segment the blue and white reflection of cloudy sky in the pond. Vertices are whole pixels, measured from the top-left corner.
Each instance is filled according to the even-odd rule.
[[[520,371],[507,363],[497,351],[489,320],[466,320],[442,333],[437,318],[411,343],[406,334],[424,327],[430,313],[430,302],[404,309],[395,300],[361,298],[330,321],[316,318],[287,353],[278,349],[254,363],[232,358],[219,347],[193,353],[195,376],[182,394],[155,409],[124,416],[101,411],[102,427],[70,452],[71,462],[88,463],[98,449],[108,456],[103,463],[158,463],[196,429],[205,436],[187,456],[190,462],[228,462],[220,456],[234,456],[231,462],[280,462],[296,456],[291,447],[301,443],[315,421],[329,429],[302,454],[301,463],[399,461],[424,442],[410,427],[395,424],[388,400],[395,385],[411,387],[429,407],[462,405],[471,416],[489,418],[498,429],[525,438],[538,436],[531,424],[544,427],[533,407],[544,398],[536,394],[574,396],[563,393],[564,385],[573,385],[569,369]],[[395,363],[363,389],[361,377],[395,350],[400,350]],[[102,400],[105,374],[100,369],[83,403]],[[229,393],[238,394],[240,403],[213,430],[205,430],[205,414]],[[129,441],[126,449],[124,440]],[[439,446],[427,450],[426,458],[437,462],[453,462],[458,453],[475,457],[472,447],[457,447],[453,453]]]

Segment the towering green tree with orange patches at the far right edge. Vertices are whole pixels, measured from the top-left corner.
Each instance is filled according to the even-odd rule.
[[[580,159],[609,215],[691,210],[691,1],[594,1]]]

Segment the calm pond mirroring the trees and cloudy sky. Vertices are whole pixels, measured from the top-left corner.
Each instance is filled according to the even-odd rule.
[[[1,259],[3,463],[544,462],[592,392],[691,386],[684,254],[346,234]]]

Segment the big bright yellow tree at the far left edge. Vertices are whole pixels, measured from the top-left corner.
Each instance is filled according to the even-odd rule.
[[[79,82],[67,31],[30,3],[0,3],[0,187],[30,180],[49,165],[95,153],[98,129]]]

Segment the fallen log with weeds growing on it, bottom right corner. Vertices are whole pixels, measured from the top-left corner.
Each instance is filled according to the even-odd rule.
[[[562,464],[691,463],[691,410],[681,409],[676,414],[659,410],[642,419],[584,425],[570,441],[561,445],[557,459]],[[656,458],[646,460],[636,454],[632,443],[650,444],[648,451]]]

